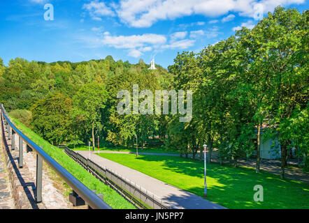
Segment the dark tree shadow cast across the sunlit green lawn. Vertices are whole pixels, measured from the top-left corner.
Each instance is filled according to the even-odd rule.
[[[164,170],[200,178],[198,185],[184,189],[203,197],[203,162],[161,155],[139,155],[136,159],[157,162]],[[308,184],[281,180],[280,176],[266,171],[256,174],[254,169],[246,167],[211,163],[207,164],[207,182],[207,199],[227,208],[309,208]],[[254,201],[254,193],[257,192],[254,185],[263,186],[264,201]]]

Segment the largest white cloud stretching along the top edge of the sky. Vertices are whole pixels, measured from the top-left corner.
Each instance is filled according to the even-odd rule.
[[[216,17],[229,12],[254,17],[258,3],[264,13],[278,6],[304,3],[305,0],[121,0],[115,6],[122,22],[134,27],[150,27],[159,20],[173,20],[188,15]]]

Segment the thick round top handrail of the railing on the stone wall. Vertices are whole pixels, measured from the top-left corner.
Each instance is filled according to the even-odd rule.
[[[18,130],[15,125],[8,118],[6,109],[4,109],[3,104],[1,104],[1,112],[3,117],[6,119],[10,128],[16,132],[16,134],[21,137],[28,146],[30,146],[38,155],[40,155],[45,162],[56,171],[59,176],[80,196],[91,208],[94,209],[112,209],[105,203],[101,198],[99,198],[92,190],[89,190],[83,183],[76,179],[72,174],[69,173],[64,167],[62,167],[58,162],[56,162],[48,153],[43,151],[38,145],[36,145],[31,139],[24,135],[20,130]]]

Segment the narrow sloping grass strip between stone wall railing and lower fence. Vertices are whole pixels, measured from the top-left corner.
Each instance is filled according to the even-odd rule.
[[[87,172],[83,167],[81,167],[78,163],[71,159],[66,153],[57,148],[56,146],[52,146],[45,141],[41,137],[38,136],[35,132],[31,131],[27,126],[20,123],[15,118],[12,118],[16,127],[23,131],[24,134],[29,137],[34,143],[38,144],[38,146],[43,146],[43,149],[48,155],[50,155],[54,160],[59,162],[67,171],[69,171],[73,176],[75,176],[80,182],[85,184],[90,190],[96,190],[96,193],[102,193],[104,197],[104,201],[108,203],[112,208],[117,209],[127,209],[127,208],[135,208],[129,201],[124,199],[120,194],[115,192],[115,190],[111,189],[100,180],[96,179],[92,174]]]

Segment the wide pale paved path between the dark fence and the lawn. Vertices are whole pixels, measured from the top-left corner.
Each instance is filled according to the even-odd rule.
[[[84,157],[89,158],[88,151],[76,151],[76,152],[80,153],[80,155],[83,155]],[[164,201],[164,203],[172,204],[177,208],[185,208],[185,209],[224,208],[216,203],[212,203],[206,199],[203,199],[202,197],[199,197],[196,194],[192,194],[185,190],[181,190],[178,187],[168,185],[167,183],[164,183],[161,180],[152,178],[146,174],[136,171],[135,169],[125,167],[122,164],[100,157],[99,155],[94,155],[92,153],[91,160],[99,164],[101,167],[107,167],[108,169],[117,172],[117,174],[124,176],[125,178],[136,183],[137,185],[157,195]]]

